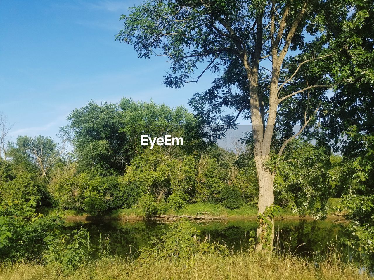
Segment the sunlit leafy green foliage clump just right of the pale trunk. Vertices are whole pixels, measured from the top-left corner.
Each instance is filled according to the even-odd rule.
[[[303,215],[309,212],[325,217],[331,196],[330,160],[325,148],[294,141],[281,160],[275,158],[277,163],[275,191],[279,193],[279,205]]]

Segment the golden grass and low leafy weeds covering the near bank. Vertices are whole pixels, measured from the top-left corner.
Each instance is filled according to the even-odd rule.
[[[309,258],[276,251],[235,253],[224,244],[210,243],[186,220],[126,257],[111,253],[108,237],[100,236],[99,245],[92,246],[87,231],[73,234],[45,238],[47,246],[39,260],[3,264],[0,279],[370,279],[357,264],[344,262],[336,249]]]

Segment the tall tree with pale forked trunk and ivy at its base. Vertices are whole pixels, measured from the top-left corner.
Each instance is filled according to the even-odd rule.
[[[271,250],[274,237],[272,151],[281,159],[286,145],[316,122],[326,91],[353,82],[338,63],[352,42],[338,40],[334,29],[356,27],[370,6],[361,1],[358,9],[356,1],[336,0],[148,0],[121,17],[117,40],[132,44],[139,57],[171,61],[167,86],[197,82],[207,71],[217,74],[212,87],[189,102],[216,137],[236,128],[239,116],[251,119],[258,211],[266,213],[257,251]],[[234,112],[224,115],[222,107]]]

